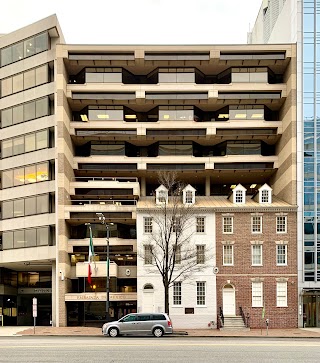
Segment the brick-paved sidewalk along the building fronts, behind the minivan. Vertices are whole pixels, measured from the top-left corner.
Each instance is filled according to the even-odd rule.
[[[187,335],[186,335],[187,333]],[[0,336],[101,336],[101,328],[90,327],[0,327]],[[266,329],[251,330],[217,330],[217,329],[194,329],[194,330],[176,330],[173,336],[186,337],[256,337],[256,338],[319,338],[319,328],[305,329],[269,329],[268,335]]]

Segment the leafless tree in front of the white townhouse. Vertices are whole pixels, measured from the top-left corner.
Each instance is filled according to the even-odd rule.
[[[183,203],[183,188],[174,172],[158,174],[159,184],[168,190],[168,198],[161,198],[148,211],[152,218],[149,239],[141,250],[141,257],[152,264],[161,275],[164,287],[165,312],[169,314],[169,289],[174,282],[191,278],[206,268],[207,248],[197,251],[192,242],[196,231],[196,206]],[[199,253],[200,252],[200,253]]]

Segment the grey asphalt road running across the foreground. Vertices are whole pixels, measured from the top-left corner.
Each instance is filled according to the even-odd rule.
[[[3,337],[0,362],[320,362],[320,339]]]

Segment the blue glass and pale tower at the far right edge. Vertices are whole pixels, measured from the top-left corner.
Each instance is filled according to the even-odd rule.
[[[263,1],[251,44],[297,43],[299,326],[320,326],[319,37],[320,4]]]

